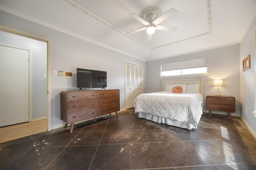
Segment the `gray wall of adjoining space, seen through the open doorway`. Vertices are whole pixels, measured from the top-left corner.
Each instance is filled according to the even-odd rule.
[[[47,44],[6,32],[0,32],[0,42],[32,50],[32,119],[46,117]]]

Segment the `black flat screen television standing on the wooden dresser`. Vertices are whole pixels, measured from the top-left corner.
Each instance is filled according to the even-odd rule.
[[[104,88],[107,87],[107,72],[76,69],[77,88]]]

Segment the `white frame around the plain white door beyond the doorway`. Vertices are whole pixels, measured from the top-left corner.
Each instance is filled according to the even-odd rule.
[[[22,50],[26,50],[28,51],[28,56],[29,56],[29,65],[28,65],[28,109],[29,109],[29,113],[28,113],[28,121],[32,122],[32,75],[33,75],[33,71],[32,71],[32,62],[33,62],[33,57],[32,57],[32,50],[25,48],[25,47],[18,47],[16,45],[12,45],[12,44],[6,44],[6,43],[0,43],[0,45],[5,46],[5,47],[11,47],[11,48],[17,48],[17,49],[22,49]]]

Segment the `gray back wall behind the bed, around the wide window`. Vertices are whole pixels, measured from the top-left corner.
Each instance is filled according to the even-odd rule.
[[[209,75],[169,77],[169,79],[203,77],[204,101],[206,101],[206,95],[215,95],[217,93],[217,87],[213,86],[213,80],[223,79],[223,86],[219,87],[219,93],[221,95],[230,95],[236,98],[236,112],[231,113],[231,115],[240,116],[239,44],[147,62],[146,92],[161,91],[162,79],[168,79],[160,77],[161,64],[206,57],[208,58]],[[204,109],[206,109],[206,104],[204,105]],[[227,115],[227,113],[223,112],[213,113]]]

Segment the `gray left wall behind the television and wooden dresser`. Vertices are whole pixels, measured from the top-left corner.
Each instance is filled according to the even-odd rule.
[[[0,24],[52,40],[52,127],[60,127],[60,92],[76,88],[76,68],[107,71],[107,89],[120,89],[120,109],[125,109],[125,61],[143,66],[146,61],[106,49],[34,22],[0,11]],[[132,49],[131,49],[132,50]],[[73,71],[73,79],[53,75],[54,70]],[[143,77],[146,82],[146,76]],[[144,90],[146,83],[144,83]]]

